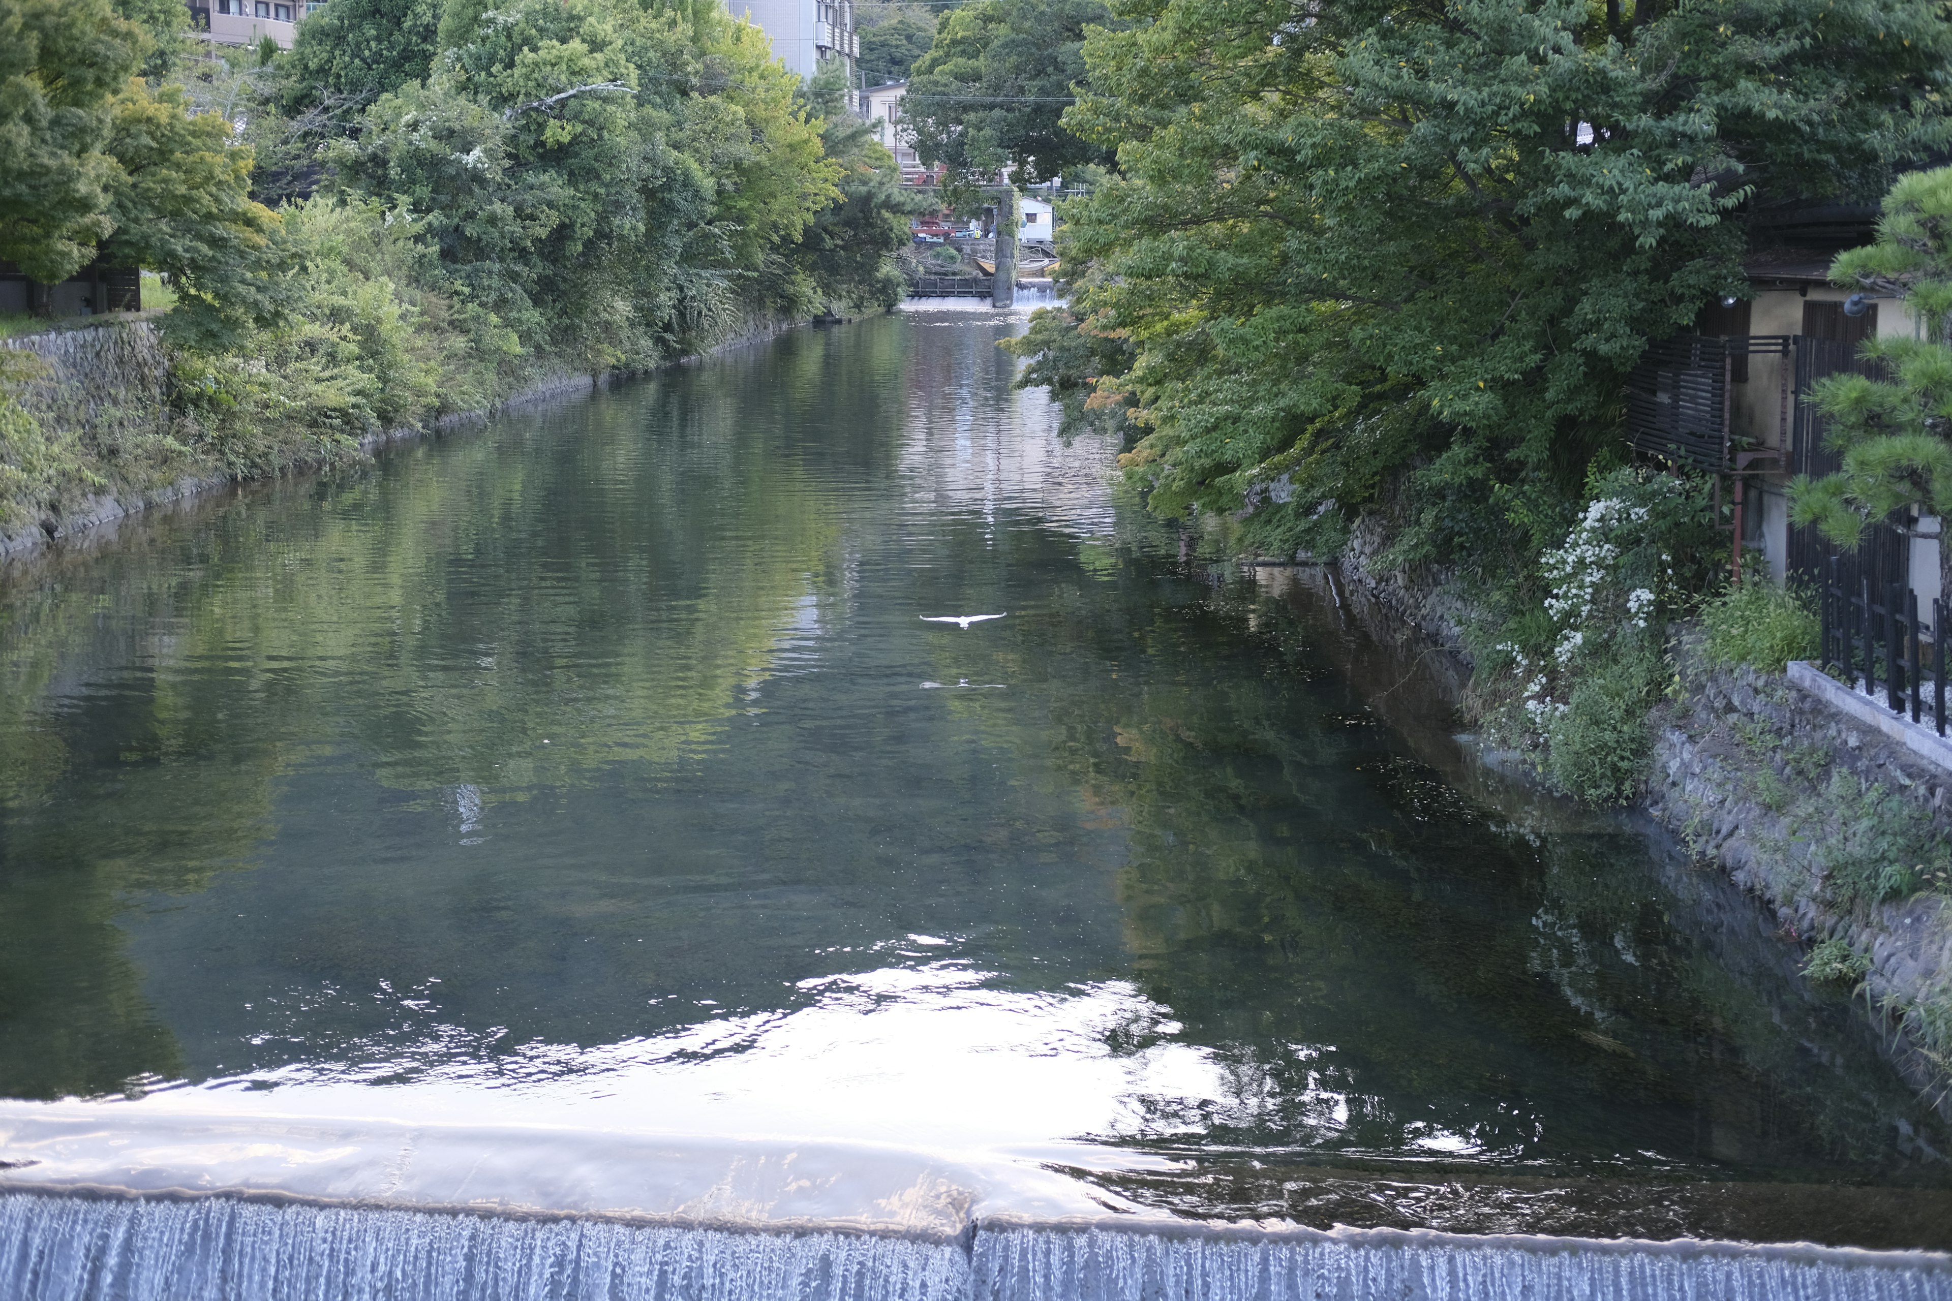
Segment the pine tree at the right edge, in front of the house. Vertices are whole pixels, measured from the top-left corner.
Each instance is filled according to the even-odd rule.
[[[1868,525],[1909,507],[1952,515],[1952,168],[1899,177],[1876,244],[1841,254],[1831,279],[1899,296],[1919,322],[1915,337],[1891,332],[1864,343],[1886,378],[1833,375],[1813,392],[1825,445],[1843,466],[1798,478],[1792,517],[1854,546]],[[1940,548],[1940,581],[1952,575],[1952,548]]]

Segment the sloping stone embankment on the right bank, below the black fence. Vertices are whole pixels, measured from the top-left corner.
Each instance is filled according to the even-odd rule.
[[[1452,681],[1466,683],[1468,605],[1441,572],[1390,572],[1386,546],[1364,519],[1331,572],[1448,651]],[[1841,940],[1841,987],[1880,1024],[1905,1077],[1952,1116],[1952,880],[1932,876],[1948,870],[1952,769],[1784,675],[1710,667],[1687,636],[1651,724],[1644,811],[1759,897],[1786,944]],[[1893,868],[1927,889],[1852,901]]]

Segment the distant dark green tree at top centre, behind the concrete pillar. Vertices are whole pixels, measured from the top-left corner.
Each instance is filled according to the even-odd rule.
[[[1085,31],[1103,25],[1117,25],[1103,0],[980,0],[943,16],[902,103],[915,152],[962,179],[1007,164],[1033,183],[1111,162],[1064,123],[1085,80]]]

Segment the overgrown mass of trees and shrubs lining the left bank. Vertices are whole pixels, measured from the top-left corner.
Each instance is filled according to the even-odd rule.
[[[904,293],[912,205],[845,76],[800,84],[722,4],[346,0],[289,55],[197,57],[142,14],[0,0],[0,257],[168,277],[182,454],[16,458],[10,425],[14,525]]]

